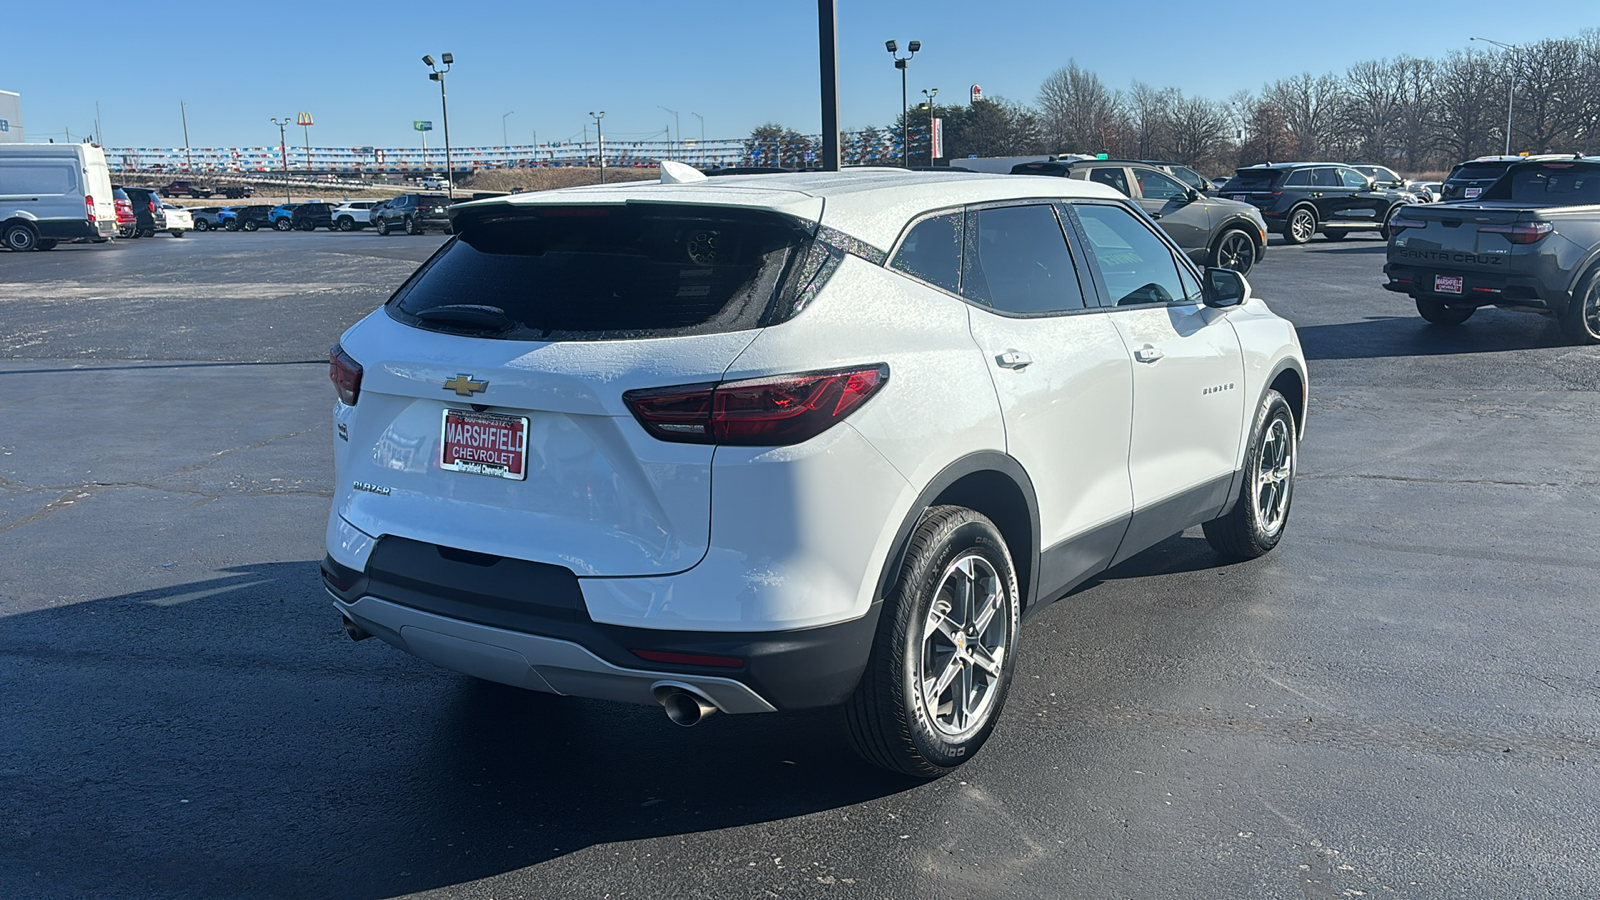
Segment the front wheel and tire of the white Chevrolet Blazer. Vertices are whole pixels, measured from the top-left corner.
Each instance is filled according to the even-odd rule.
[[[1250,428],[1245,477],[1234,508],[1202,525],[1211,549],[1230,559],[1256,559],[1278,546],[1290,520],[1298,468],[1294,412],[1283,394],[1267,391]]]

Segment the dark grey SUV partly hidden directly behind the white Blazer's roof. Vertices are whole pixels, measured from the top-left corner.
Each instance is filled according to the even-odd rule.
[[[1206,197],[1150,163],[1062,159],[1014,165],[1011,175],[1054,175],[1115,187],[1200,266],[1246,274],[1267,251],[1267,224],[1259,210]]]

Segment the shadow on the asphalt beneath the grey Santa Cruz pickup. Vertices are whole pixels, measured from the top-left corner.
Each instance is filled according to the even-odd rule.
[[[1294,330],[1307,360],[1459,356],[1566,343],[1552,319],[1490,307],[1478,309],[1462,325],[1430,325],[1421,315],[1368,315]]]

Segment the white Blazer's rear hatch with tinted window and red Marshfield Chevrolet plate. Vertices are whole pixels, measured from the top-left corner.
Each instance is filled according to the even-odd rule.
[[[718,381],[782,317],[813,226],[693,205],[493,203],[454,227],[342,340],[363,375],[339,407],[339,512],[371,535],[579,575],[693,567],[715,448],[650,437],[622,392]]]

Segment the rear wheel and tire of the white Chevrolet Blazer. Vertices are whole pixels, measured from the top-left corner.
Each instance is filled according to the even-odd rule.
[[[968,591],[958,589],[963,580]],[[981,593],[989,599],[979,601]],[[845,701],[856,753],[918,778],[938,778],[971,759],[1005,708],[1019,612],[1016,569],[994,522],[962,506],[930,509],[883,601],[867,668]],[[939,676],[925,679],[930,671]],[[941,703],[947,690],[950,703]]]

